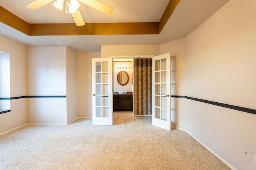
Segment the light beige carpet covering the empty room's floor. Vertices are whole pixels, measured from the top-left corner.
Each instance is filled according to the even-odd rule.
[[[0,169],[226,170],[184,131],[152,125],[25,126],[0,136]]]

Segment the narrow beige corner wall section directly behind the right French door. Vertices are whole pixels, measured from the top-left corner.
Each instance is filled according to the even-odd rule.
[[[183,38],[160,45],[160,54],[170,53],[171,56],[171,95],[185,96],[186,94],[185,42]],[[172,114],[174,114],[174,118],[171,118],[173,127],[186,128],[185,104],[186,99],[171,98]]]

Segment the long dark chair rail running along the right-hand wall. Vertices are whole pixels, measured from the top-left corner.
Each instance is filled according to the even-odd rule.
[[[229,108],[229,109],[234,109],[234,110],[243,111],[243,112],[247,112],[247,113],[252,113],[252,114],[256,115],[256,110],[255,109],[249,109],[249,108],[234,106],[234,105],[230,105],[230,104],[212,102],[212,101],[209,101],[209,100],[203,100],[203,99],[198,99],[198,98],[191,98],[191,97],[188,97],[188,96],[171,96],[171,97],[172,98],[186,98],[186,99],[195,100],[195,101],[198,101],[198,102],[212,104],[212,105],[216,105],[216,106],[220,106],[220,107],[226,107],[226,108]]]

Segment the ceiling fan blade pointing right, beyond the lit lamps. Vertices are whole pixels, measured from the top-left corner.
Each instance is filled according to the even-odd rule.
[[[103,2],[100,2],[98,0],[79,0],[79,1],[109,15],[113,14],[114,12],[114,8],[112,6],[104,4]]]

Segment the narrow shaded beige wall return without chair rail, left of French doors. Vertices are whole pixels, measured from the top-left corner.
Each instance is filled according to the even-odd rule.
[[[67,123],[77,117],[76,53],[66,47]]]

